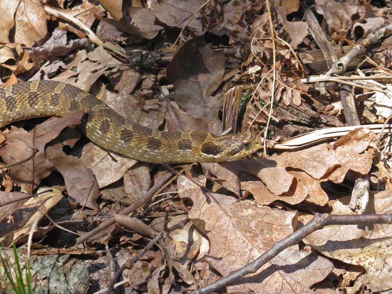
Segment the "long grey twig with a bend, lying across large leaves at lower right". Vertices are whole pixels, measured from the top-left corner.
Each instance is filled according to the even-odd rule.
[[[221,278],[220,280],[192,291],[190,294],[205,294],[217,291],[222,287],[226,287],[231,283],[238,281],[243,276],[249,273],[255,273],[272,258],[282,252],[284,249],[297,244],[304,237],[309,234],[322,229],[327,225],[347,225],[347,224],[375,224],[375,223],[387,223],[392,224],[392,214],[380,214],[380,215],[328,215],[326,213],[317,213],[312,221],[309,221],[303,227],[296,230],[291,235],[276,242],[275,245],[270,247],[266,252],[259,256],[256,260],[252,261],[245,267],[231,272],[228,276]]]

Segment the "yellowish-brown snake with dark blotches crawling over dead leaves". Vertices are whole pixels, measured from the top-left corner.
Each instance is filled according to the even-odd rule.
[[[85,112],[77,126],[99,147],[147,163],[222,162],[251,155],[263,139],[246,131],[215,136],[204,130],[159,131],[132,123],[99,98],[67,83],[25,81],[0,88],[0,127],[37,117]]]

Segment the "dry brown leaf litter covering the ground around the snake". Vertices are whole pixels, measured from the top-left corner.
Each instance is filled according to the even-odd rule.
[[[344,104],[339,111],[328,110],[341,103],[337,83],[304,81],[325,74],[317,71],[323,53],[318,36],[308,33],[312,26],[304,13],[319,14],[323,34],[336,50],[387,25],[391,13],[368,1],[307,4],[274,1],[269,12],[265,1],[51,1],[67,16],[63,19],[49,15],[49,5],[41,1],[0,0],[1,85],[66,82],[126,119],[158,130],[219,135],[234,131],[223,129],[222,117],[228,116],[235,129],[264,136],[270,122],[266,156],[260,150],[236,161],[172,167],[137,162],[89,142],[74,127],[81,111],[3,127],[0,242],[14,241],[23,250],[35,225],[29,250],[37,264],[60,258],[56,267],[63,270],[66,260],[79,265],[64,273],[66,284],[34,271],[33,289],[50,288],[54,279],[75,293],[104,291],[117,281],[133,293],[190,292],[246,266],[317,212],[391,213],[390,137],[378,138],[368,127],[296,150],[273,149],[282,139],[346,123]],[[374,44],[374,61],[347,73],[355,82],[363,124],[369,117],[372,123],[389,119],[390,95],[384,90],[390,79],[354,78],[391,73],[391,44],[388,38]],[[222,109],[223,101],[227,108]],[[156,187],[172,168],[178,174]],[[363,211],[349,205],[350,196],[359,195],[354,193],[358,178],[369,183]],[[140,202],[131,211],[139,222],[121,215]],[[83,237],[112,217],[84,243],[96,250],[94,260],[76,235]],[[187,223],[170,230],[182,221]],[[390,291],[390,231],[390,224],[378,223],[324,227],[221,291]],[[162,238],[149,245],[159,234]],[[65,246],[73,257],[51,252],[45,260],[40,246]],[[78,250],[85,250],[83,259]],[[124,267],[116,281],[113,261]],[[87,264],[95,270],[87,270]],[[6,287],[0,285],[1,291]]]

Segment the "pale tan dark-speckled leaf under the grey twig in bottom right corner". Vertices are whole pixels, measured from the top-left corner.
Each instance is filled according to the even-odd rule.
[[[331,201],[332,213],[354,214],[347,205],[348,201],[347,197]],[[375,194],[372,201],[374,201],[374,207],[370,207],[365,213],[391,213],[391,191]],[[311,218],[312,216],[306,216],[303,221],[307,222]],[[369,280],[368,290],[380,292],[392,288],[391,239],[391,225],[374,224],[370,226],[332,225],[310,234],[303,241],[328,257],[364,267]]]

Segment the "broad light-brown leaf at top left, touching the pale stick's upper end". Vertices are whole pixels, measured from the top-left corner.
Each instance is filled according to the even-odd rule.
[[[44,39],[48,18],[40,0],[21,0],[15,13],[15,42],[31,47]]]

